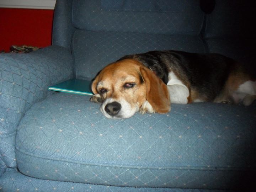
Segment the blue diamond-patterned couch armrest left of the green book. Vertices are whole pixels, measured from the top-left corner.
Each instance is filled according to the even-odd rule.
[[[0,158],[7,167],[16,166],[15,134],[25,112],[50,94],[49,85],[72,76],[72,57],[63,47],[0,54]]]

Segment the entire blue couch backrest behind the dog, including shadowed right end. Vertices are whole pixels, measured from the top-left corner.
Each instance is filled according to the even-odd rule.
[[[82,79],[123,55],[150,50],[249,62],[255,61],[255,11],[253,1],[242,0],[57,0],[53,44],[72,48]]]

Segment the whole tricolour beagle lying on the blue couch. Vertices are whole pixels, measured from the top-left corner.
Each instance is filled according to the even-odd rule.
[[[256,79],[244,67],[220,54],[151,51],[126,55],[103,68],[92,82],[107,118],[134,113],[167,113],[171,103],[242,102],[256,99]]]

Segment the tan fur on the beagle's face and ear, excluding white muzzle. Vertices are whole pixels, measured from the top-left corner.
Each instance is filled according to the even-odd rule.
[[[130,89],[124,88],[126,83],[135,83]],[[107,92],[100,94],[101,89]],[[154,112],[170,111],[170,99],[167,86],[150,69],[134,59],[124,59],[106,66],[92,83],[95,96],[91,101],[97,102],[97,97],[103,101],[107,98],[126,100],[132,108],[139,106],[142,113],[148,112],[143,103],[148,101]]]

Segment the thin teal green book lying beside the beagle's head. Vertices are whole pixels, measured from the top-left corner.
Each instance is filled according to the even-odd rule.
[[[91,91],[91,82],[91,80],[70,79],[53,86],[49,86],[48,90],[80,95],[94,95]]]

